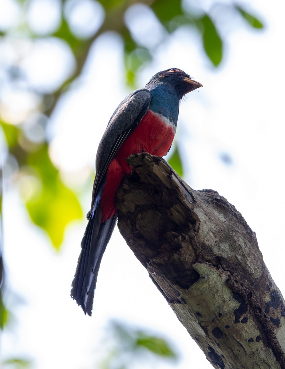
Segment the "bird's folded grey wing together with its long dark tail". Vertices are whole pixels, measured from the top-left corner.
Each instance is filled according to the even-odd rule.
[[[71,296],[82,307],[85,314],[91,315],[94,289],[103,253],[116,224],[116,215],[102,221],[100,198],[110,162],[120,146],[137,127],[150,105],[151,94],[147,89],[131,93],[117,107],[99,144],[96,156],[96,177],[93,185],[92,208],[89,222],[81,242],[81,253]]]

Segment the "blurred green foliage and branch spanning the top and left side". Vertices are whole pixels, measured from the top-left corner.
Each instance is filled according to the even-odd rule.
[[[263,25],[257,17],[236,3],[221,4],[213,0],[212,7],[205,10],[202,2],[199,4],[191,0],[89,0],[89,5],[97,9],[94,14],[90,15],[89,21],[85,22],[88,26],[93,27],[93,32],[89,30],[89,33],[82,35],[82,33],[76,32],[71,15],[76,11],[81,11],[82,15],[80,4],[83,2],[80,3],[78,0],[52,2],[54,7],[57,6],[57,13],[56,11],[53,13],[54,20],[48,19],[54,23],[45,30],[33,27],[27,16],[37,3],[39,3],[38,0],[18,0],[20,16],[15,18],[14,23],[0,29],[0,48],[8,45],[8,54],[10,53],[10,56],[0,63],[2,69],[0,71],[0,124],[7,145],[4,166],[9,165],[11,158],[13,158],[13,162],[16,161],[18,168],[14,169],[13,178],[18,180],[20,187],[25,187],[21,190],[24,192],[23,199],[31,220],[48,233],[52,244],[56,249],[59,249],[66,225],[72,219],[82,217],[82,211],[77,200],[78,196],[63,184],[59,170],[49,157],[50,141],[47,134],[50,126],[49,117],[59,98],[69,88],[72,88],[72,82],[81,75],[89,50],[96,39],[108,31],[120,35],[124,48],[126,82],[134,88],[138,71],[146,63],[151,62],[157,46],[166,41],[169,35],[181,26],[188,27],[189,38],[192,30],[198,32],[209,65],[218,67],[223,58],[223,48],[226,41],[226,36],[220,30],[219,22],[221,20],[222,23],[230,23],[232,20],[229,14],[231,14],[232,17],[242,17],[253,28],[260,29]],[[142,6],[152,13],[153,21],[161,30],[159,37],[151,34],[151,39],[154,42],[149,45],[145,42],[145,37],[143,39],[138,37],[131,20],[127,21],[129,11],[135,11],[136,17],[143,16],[140,13]],[[97,19],[97,13],[102,14],[102,19]],[[44,17],[42,14],[41,17]],[[96,24],[92,24],[93,19],[94,22],[97,19]],[[147,29],[144,32],[150,36],[147,34]],[[52,91],[36,87],[25,75],[23,66],[27,57],[30,56],[31,45],[36,45],[37,41],[45,39],[61,42],[62,47],[67,47],[72,53],[75,61],[75,68],[69,74],[67,73],[61,84],[55,86]],[[26,44],[21,44],[23,40],[26,41]],[[37,68],[42,74],[45,73],[44,69],[41,70],[44,66],[37,65]],[[30,71],[30,73],[32,72]],[[33,101],[32,106],[20,112],[21,114],[13,101],[7,104],[7,94],[13,90],[16,90],[17,93],[28,94],[30,100]],[[40,126],[44,131],[41,138],[33,140],[27,134],[25,124],[31,120],[35,113],[38,113],[41,118],[44,117],[45,123],[42,124],[38,118],[30,124],[30,133],[33,133],[33,130],[37,131]],[[182,163],[177,148],[171,158],[171,164],[182,175]],[[27,196],[27,187],[29,186],[32,193]]]

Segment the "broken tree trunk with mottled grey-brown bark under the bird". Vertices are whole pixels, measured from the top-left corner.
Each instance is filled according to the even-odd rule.
[[[284,299],[242,215],[162,158],[128,162],[120,232],[213,367],[285,369]]]

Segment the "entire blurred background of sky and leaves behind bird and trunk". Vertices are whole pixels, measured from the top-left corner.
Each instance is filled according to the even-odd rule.
[[[212,368],[117,228],[92,317],[69,296],[97,146],[159,70],[204,86],[182,100],[166,159],[236,206],[284,291],[284,11],[275,0],[0,0],[1,367]]]

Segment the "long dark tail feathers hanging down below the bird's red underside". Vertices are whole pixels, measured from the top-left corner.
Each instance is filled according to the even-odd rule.
[[[87,224],[71,288],[71,297],[82,307],[84,313],[90,316],[99,266],[116,225],[117,217],[114,215],[104,223],[101,223],[101,220],[102,211],[99,204],[94,216]]]

